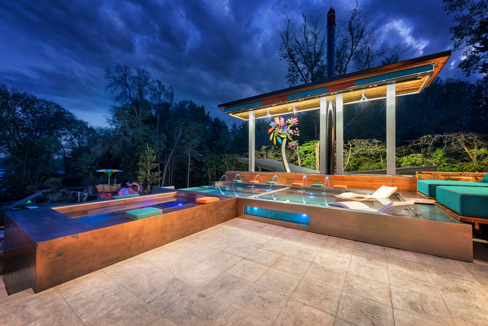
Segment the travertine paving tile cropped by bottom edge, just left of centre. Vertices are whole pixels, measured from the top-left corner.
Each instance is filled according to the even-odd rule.
[[[207,326],[212,324],[228,305],[212,296],[198,291],[174,302],[164,315],[178,326]]]

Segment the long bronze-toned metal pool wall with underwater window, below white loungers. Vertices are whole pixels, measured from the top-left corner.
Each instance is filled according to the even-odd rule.
[[[244,214],[244,206],[306,214],[309,225]],[[470,224],[360,212],[334,207],[238,198],[238,217],[375,245],[473,261]]]

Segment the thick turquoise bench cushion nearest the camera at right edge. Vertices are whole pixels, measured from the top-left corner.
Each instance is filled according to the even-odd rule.
[[[461,215],[488,218],[488,187],[440,186],[436,200]]]

